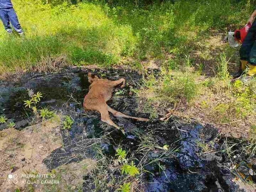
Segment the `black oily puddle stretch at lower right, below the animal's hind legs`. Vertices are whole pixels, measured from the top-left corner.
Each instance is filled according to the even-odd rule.
[[[123,137],[118,131],[110,132],[109,140],[101,143],[101,149],[106,155],[114,156],[115,149],[121,145],[128,151],[127,156],[129,156],[130,153],[137,150],[137,146],[142,142],[139,137],[149,137],[155,145],[169,145],[170,149],[177,149],[177,152],[170,156],[165,155],[163,150],[159,149],[150,151],[146,155],[145,164],[147,165],[144,170],[147,172],[141,180],[145,192],[243,191],[232,181],[234,175],[228,169],[230,161],[225,153],[198,156],[201,150],[198,147],[198,142],[202,142],[200,135],[205,135],[204,140],[209,143],[217,137],[217,129],[203,127],[196,123],[178,124],[177,121],[178,119],[167,122],[155,120],[145,123],[116,119],[119,126],[124,126],[128,136]],[[91,122],[87,121],[87,123]],[[138,137],[138,135],[140,136]],[[100,135],[96,135],[94,138],[97,137]],[[233,140],[233,138],[229,139]],[[216,143],[213,150],[220,151],[222,142],[224,141]],[[239,151],[236,155],[238,154]],[[145,159],[145,156],[137,153],[135,158],[141,160]],[[248,159],[248,156],[241,156],[233,162],[240,163],[242,160]],[[135,161],[135,164],[138,162]],[[160,166],[164,167],[164,170]],[[112,174],[112,176],[120,177],[119,173]],[[90,175],[86,175],[84,180],[84,191],[95,189],[93,178]],[[111,188],[108,190],[114,191]]]

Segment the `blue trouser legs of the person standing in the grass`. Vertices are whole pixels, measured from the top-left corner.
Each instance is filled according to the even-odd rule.
[[[20,23],[18,22],[16,12],[14,11],[14,8],[10,7],[0,9],[0,18],[4,24],[4,28],[7,31],[7,33],[12,33],[10,22],[12,24],[12,27],[14,27],[15,31],[17,31],[19,34],[23,33]]]

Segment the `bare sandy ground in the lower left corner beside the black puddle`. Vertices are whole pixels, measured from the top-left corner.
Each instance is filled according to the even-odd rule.
[[[56,122],[46,122],[21,131],[14,128],[0,131],[1,192],[69,191],[82,186],[82,176],[94,168],[91,159],[62,165],[51,172],[43,163],[54,149],[62,146],[59,127]]]

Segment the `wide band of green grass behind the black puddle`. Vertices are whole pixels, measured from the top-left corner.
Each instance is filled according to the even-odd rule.
[[[30,70],[60,55],[69,64],[103,66],[127,57],[163,58],[166,53],[182,58],[210,29],[242,26],[243,15],[253,9],[245,0],[43,2],[13,0],[26,39],[8,37],[1,27],[0,74]]]

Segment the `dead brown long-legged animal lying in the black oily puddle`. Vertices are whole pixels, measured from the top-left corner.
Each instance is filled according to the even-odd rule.
[[[107,105],[107,101],[111,99],[114,87],[121,84],[121,88],[125,86],[125,79],[121,78],[116,81],[108,79],[99,79],[96,75],[88,73],[88,81],[91,83],[89,92],[84,98],[84,109],[98,111],[101,114],[101,121],[106,122],[117,129],[120,129],[111,119],[108,112],[111,112],[115,117],[127,117],[137,119],[139,121],[149,121],[149,119],[140,117],[131,117],[119,111],[113,110]],[[123,132],[123,130],[122,130]],[[124,133],[124,132],[123,132]]]

